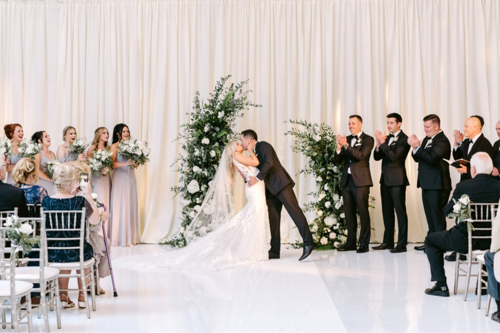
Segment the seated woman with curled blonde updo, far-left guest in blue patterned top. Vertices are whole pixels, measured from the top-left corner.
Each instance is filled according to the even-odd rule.
[[[39,185],[38,165],[30,158],[22,158],[17,162],[12,170],[13,184],[24,191],[27,204],[35,204],[47,195],[47,190]]]

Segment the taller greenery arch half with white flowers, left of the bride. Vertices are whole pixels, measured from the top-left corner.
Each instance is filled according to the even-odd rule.
[[[261,106],[247,99],[251,90],[243,87],[248,80],[227,85],[229,77],[221,77],[215,83],[207,100],[200,99],[199,91],[196,91],[189,122],[181,125],[175,139],[180,142],[181,153],[172,166],[178,166],[179,185],[170,190],[182,197],[182,222],[180,228],[160,244],[186,245],[183,232],[211,185],[222,150],[230,140],[239,139],[239,133],[232,130],[236,118],[242,117],[241,111],[249,110],[250,106]]]

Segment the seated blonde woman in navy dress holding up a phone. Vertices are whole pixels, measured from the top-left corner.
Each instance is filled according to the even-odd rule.
[[[86,186],[81,193],[83,196],[75,196],[75,193],[80,192],[78,178],[76,177],[76,172],[74,169],[67,164],[60,164],[54,168],[53,172],[53,182],[55,193],[49,197],[43,198],[41,202],[41,208],[45,211],[63,211],[63,210],[80,210],[85,207],[85,219],[89,224],[99,223],[99,214],[97,213],[97,207],[92,200],[92,190],[90,186]],[[65,215],[67,219],[67,215]],[[72,219],[72,217],[70,217]],[[52,220],[55,221],[55,216],[52,216]],[[79,227],[79,219],[76,219],[76,228]],[[49,226],[49,219],[47,221],[47,227]],[[67,222],[67,221],[64,221]],[[47,231],[47,238],[68,238],[75,237],[74,232],[70,231]],[[85,237],[86,238],[86,237]],[[77,240],[68,241],[49,241],[47,244],[49,247],[71,247],[78,246],[79,242]],[[86,240],[83,242],[83,259],[89,260],[93,256],[93,249]],[[78,260],[79,252],[78,250],[68,249],[68,250],[49,250],[48,251],[48,261],[51,263],[71,263]],[[79,273],[78,271],[76,271]],[[61,270],[60,274],[69,274],[71,271]],[[85,274],[88,271],[85,271]],[[81,281],[78,281],[78,287],[81,289]],[[69,278],[59,278],[59,288],[67,289]],[[78,295],[78,307],[85,307],[85,299],[83,293],[80,291]],[[60,293],[60,301],[63,308],[74,307],[74,303],[69,300],[67,292]]]

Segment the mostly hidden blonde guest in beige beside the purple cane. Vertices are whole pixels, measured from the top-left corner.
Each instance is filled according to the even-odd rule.
[[[90,167],[88,164],[83,162],[69,162],[69,165],[76,172],[76,178],[79,179],[81,173],[87,173],[90,175]],[[90,176],[91,177],[91,176]],[[90,180],[90,179],[89,179]],[[90,183],[90,182],[89,182]],[[80,194],[81,195],[81,192]],[[97,198],[99,200],[99,198]],[[101,204],[102,205],[102,204]],[[107,209],[107,207],[106,207]],[[104,207],[97,208],[98,213],[100,215],[101,221],[106,221],[109,219],[109,212],[104,210]],[[88,243],[92,246],[94,250],[94,258],[99,262],[99,276],[98,278],[105,278],[110,274],[109,265],[107,263],[107,252],[106,245],[104,243],[104,236],[102,236],[102,227],[101,224],[91,225],[88,230]],[[107,240],[109,244],[109,239]],[[100,294],[104,294],[104,290],[100,289]]]

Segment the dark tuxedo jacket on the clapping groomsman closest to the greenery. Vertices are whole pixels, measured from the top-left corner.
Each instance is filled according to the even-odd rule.
[[[353,137],[353,135],[349,135],[347,137],[348,147],[342,147],[339,154],[335,151],[333,156],[336,161],[344,160],[344,169],[340,178],[340,186],[345,186],[347,184],[347,169],[349,167],[354,185],[357,187],[373,186],[369,161],[375,140],[363,132],[354,143],[354,147],[351,147],[350,141]]]

